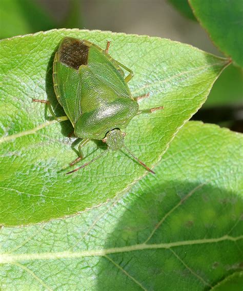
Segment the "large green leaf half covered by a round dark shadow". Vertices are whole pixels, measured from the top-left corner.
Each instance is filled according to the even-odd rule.
[[[66,219],[3,227],[1,287],[219,291],[242,281],[242,145],[238,133],[189,122],[156,175],[122,198]]]

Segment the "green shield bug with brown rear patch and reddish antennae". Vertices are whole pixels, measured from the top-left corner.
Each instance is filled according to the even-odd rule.
[[[88,40],[65,37],[53,62],[54,91],[67,116],[56,117],[49,101],[33,99],[46,103],[57,121],[70,120],[74,135],[81,138],[78,146],[79,156],[70,166],[83,158],[82,147],[90,140],[102,140],[108,149],[92,161],[68,172],[75,172],[99,158],[109,149],[125,148],[135,160],[139,161],[125,146],[125,132],[120,131],[131,119],[141,113],[152,113],[163,106],[139,110],[138,100],[148,95],[133,98],[127,83],[133,72],[109,54],[110,42],[106,50]],[[125,69],[129,74],[125,77]]]

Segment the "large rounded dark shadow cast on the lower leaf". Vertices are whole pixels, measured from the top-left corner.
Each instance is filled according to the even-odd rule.
[[[242,270],[240,196],[211,184],[157,181],[142,184],[120,208],[97,290],[209,290]]]

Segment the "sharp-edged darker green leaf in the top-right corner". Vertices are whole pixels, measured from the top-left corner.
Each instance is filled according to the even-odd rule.
[[[189,0],[199,23],[227,56],[243,67],[243,2],[239,0]]]

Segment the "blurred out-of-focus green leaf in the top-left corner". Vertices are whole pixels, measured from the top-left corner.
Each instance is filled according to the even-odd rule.
[[[54,28],[42,6],[33,0],[1,0],[0,38]]]

